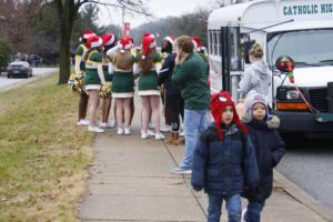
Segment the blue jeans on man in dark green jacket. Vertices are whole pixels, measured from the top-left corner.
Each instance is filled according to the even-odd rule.
[[[206,113],[208,110],[184,110],[185,157],[180,164],[183,169],[192,169],[198,133],[206,129]]]

